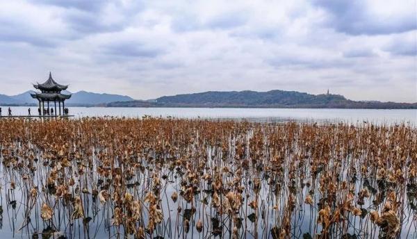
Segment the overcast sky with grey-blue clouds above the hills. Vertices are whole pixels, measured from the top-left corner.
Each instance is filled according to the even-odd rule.
[[[0,94],[297,90],[417,101],[417,1],[0,0]]]

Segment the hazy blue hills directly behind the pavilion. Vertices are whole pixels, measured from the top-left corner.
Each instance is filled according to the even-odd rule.
[[[22,94],[8,96],[0,94],[0,105],[4,106],[37,106],[38,102],[31,97],[33,90],[28,90]],[[71,93],[64,91],[65,94]],[[97,106],[108,104],[113,101],[133,101],[131,97],[119,94],[99,94],[93,92],[79,91],[72,94],[72,97],[65,101],[67,106]]]

